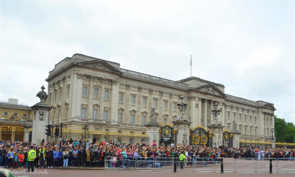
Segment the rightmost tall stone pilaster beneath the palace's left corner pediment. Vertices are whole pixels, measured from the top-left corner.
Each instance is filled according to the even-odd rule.
[[[111,123],[116,123],[118,119],[118,102],[119,102],[119,85],[117,80],[112,80],[112,94],[111,94]]]

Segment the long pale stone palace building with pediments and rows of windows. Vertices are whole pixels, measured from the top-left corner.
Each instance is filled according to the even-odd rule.
[[[188,77],[173,81],[120,68],[120,64],[83,54],[74,54],[55,64],[49,76],[47,104],[52,109],[48,124],[118,133],[145,134],[144,126],[155,108],[159,124],[179,115],[177,103],[184,97],[185,115],[191,127],[210,125],[217,103],[224,129],[233,121],[242,140],[269,141],[274,127],[274,105],[227,95],[224,85]]]

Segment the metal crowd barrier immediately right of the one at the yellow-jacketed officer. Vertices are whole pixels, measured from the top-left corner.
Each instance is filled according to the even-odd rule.
[[[193,162],[193,171],[197,173],[214,172],[214,158],[196,158]]]

